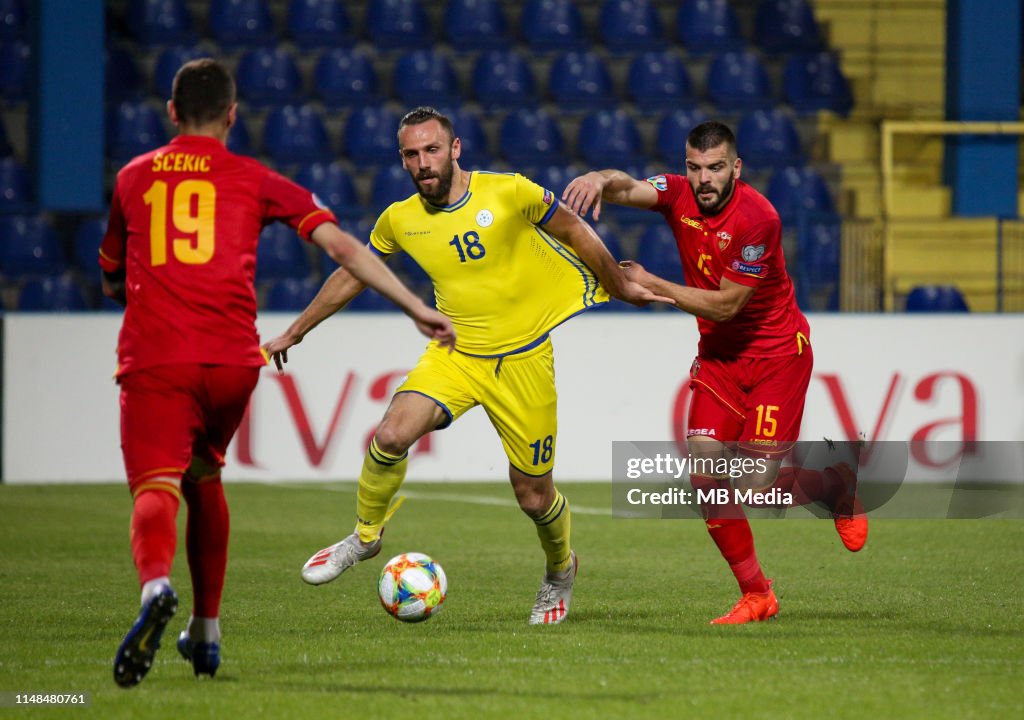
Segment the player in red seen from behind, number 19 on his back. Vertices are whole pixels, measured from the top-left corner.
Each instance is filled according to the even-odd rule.
[[[121,448],[142,588],[141,611],[115,660],[123,687],[145,676],[177,609],[169,576],[182,497],[194,610],[178,650],[197,675],[213,676],[220,664],[228,536],[220,468],[267,363],[255,324],[260,229],[287,222],[399,305],[423,334],[454,344],[451,322],[342,231],[311,193],[227,151],[238,105],[234,81],[219,62],[182,66],[167,112],[178,135],[118,173],[99,250],[103,292],[125,305],[117,371]]]

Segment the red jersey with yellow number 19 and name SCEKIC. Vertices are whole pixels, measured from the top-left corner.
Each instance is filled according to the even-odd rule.
[[[172,363],[261,366],[256,246],[282,220],[334,220],[313,195],[216,138],[179,135],[118,173],[99,265],[125,269],[118,375]],[[297,241],[296,241],[297,242]]]

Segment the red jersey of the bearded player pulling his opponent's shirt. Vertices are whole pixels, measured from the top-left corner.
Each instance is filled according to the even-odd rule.
[[[718,290],[722,279],[756,288],[736,315],[725,323],[697,317],[699,354],[715,357],[774,357],[797,354],[810,328],[797,305],[782,256],[782,223],[768,200],[736,180],[729,202],[705,217],[682,175],[647,178],[657,190],[652,210],[660,212],[676,237],[686,282]]]

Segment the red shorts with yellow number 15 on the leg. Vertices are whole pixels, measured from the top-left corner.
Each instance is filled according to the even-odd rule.
[[[800,436],[814,355],[697,357],[690,368],[687,437],[737,442],[746,454],[790,451]]]

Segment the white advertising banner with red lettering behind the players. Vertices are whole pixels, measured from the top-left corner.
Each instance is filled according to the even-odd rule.
[[[291,315],[260,319],[263,337]],[[1024,316],[811,316],[815,372],[802,439],[1024,439]],[[117,314],[3,320],[5,482],[118,481]],[[696,328],[682,313],[583,315],[552,334],[559,389],[555,476],[605,480],[613,440],[685,436]],[[341,313],[270,367],[231,444],[228,479],[352,479],[391,392],[425,345],[394,313]],[[918,443],[922,448],[928,448]],[[947,447],[947,443],[941,443]],[[914,461],[939,467],[948,458]],[[410,477],[502,480],[480,409],[423,438]]]

